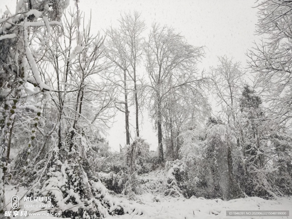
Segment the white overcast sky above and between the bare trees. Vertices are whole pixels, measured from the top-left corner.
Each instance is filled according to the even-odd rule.
[[[10,11],[15,12],[14,0],[0,0],[0,13],[6,11],[6,5]],[[71,5],[74,6],[72,0]],[[234,61],[240,61],[246,66],[246,51],[253,46],[253,41],[259,39],[255,36],[256,12],[253,8],[256,0],[79,0],[79,9],[85,13],[85,19],[92,16],[93,33],[107,27],[117,27],[117,19],[124,12],[138,11],[141,18],[145,19],[148,33],[152,22],[159,22],[161,25],[169,25],[185,36],[189,44],[194,46],[206,46],[206,58],[199,67],[202,70],[216,66],[217,56],[227,55],[234,57]],[[212,100],[210,100],[211,102]],[[131,109],[130,109],[131,110]],[[135,124],[134,110],[130,112],[131,124]],[[124,146],[126,136],[124,134],[124,115],[120,114],[115,118],[108,133],[107,139],[114,150],[119,150],[119,144]],[[134,128],[132,127],[132,130]],[[152,144],[151,150],[157,148],[156,132],[152,131],[152,124],[148,116],[144,116],[142,125],[142,138]],[[134,136],[133,136],[134,137]]]

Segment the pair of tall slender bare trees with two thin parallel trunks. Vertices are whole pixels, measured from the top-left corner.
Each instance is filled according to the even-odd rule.
[[[140,14],[134,12],[124,14],[119,20],[120,26],[117,29],[110,28],[107,30],[109,40],[106,41],[105,54],[115,69],[114,76],[112,74],[107,79],[113,81],[122,88],[124,93],[124,113],[126,122],[126,144],[130,144],[129,131],[129,110],[131,103],[129,95],[134,94],[134,105],[136,114],[136,135],[139,137],[139,105],[138,105],[138,74],[137,67],[141,61],[142,54],[142,32],[145,30],[145,23],[141,20]],[[117,70],[119,69],[119,70]],[[122,72],[121,77],[119,71]],[[132,88],[132,84],[134,85]]]

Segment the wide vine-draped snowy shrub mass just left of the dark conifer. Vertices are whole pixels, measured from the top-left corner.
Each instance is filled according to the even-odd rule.
[[[241,197],[234,180],[232,153],[234,132],[220,119],[210,117],[205,128],[181,134],[182,160],[188,166],[189,196],[231,199]]]

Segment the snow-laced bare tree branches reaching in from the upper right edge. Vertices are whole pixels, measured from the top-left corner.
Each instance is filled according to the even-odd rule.
[[[255,44],[248,53],[255,84],[268,101],[267,112],[277,126],[291,125],[292,117],[291,7],[292,2],[286,0],[267,0],[258,5],[257,32],[266,41]]]

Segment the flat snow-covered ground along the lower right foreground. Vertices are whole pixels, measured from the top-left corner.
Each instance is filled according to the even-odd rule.
[[[131,214],[116,215],[111,218],[152,218],[152,219],[184,219],[184,218],[292,218],[292,197],[279,198],[276,201],[265,200],[259,197],[248,197],[223,201],[221,199],[204,198],[173,198],[157,197],[152,194],[137,196],[137,200],[128,201],[124,197],[118,198],[132,210]],[[129,212],[131,212],[131,210]],[[283,210],[289,211],[290,216],[226,216],[226,211],[233,210]]]

